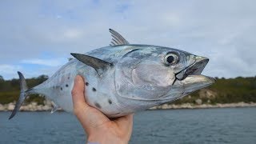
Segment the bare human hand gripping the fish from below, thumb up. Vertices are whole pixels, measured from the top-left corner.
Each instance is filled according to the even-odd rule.
[[[133,127],[133,114],[110,119],[101,111],[89,106],[85,99],[85,86],[81,76],[76,76],[72,90],[74,114],[87,134],[90,143],[128,143]]]

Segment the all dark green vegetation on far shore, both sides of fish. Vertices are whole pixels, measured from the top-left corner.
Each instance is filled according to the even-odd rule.
[[[29,88],[37,86],[44,82],[48,77],[41,75],[38,78],[26,79]],[[12,79],[5,81],[0,76],[0,103],[6,104],[18,100],[19,81]],[[190,96],[186,96],[174,104],[196,103],[197,99],[201,99],[202,103],[235,103],[235,102],[256,102],[256,77],[250,78],[217,78],[214,85],[194,92]],[[42,104],[43,97],[32,95],[26,99],[26,102],[38,102]]]

